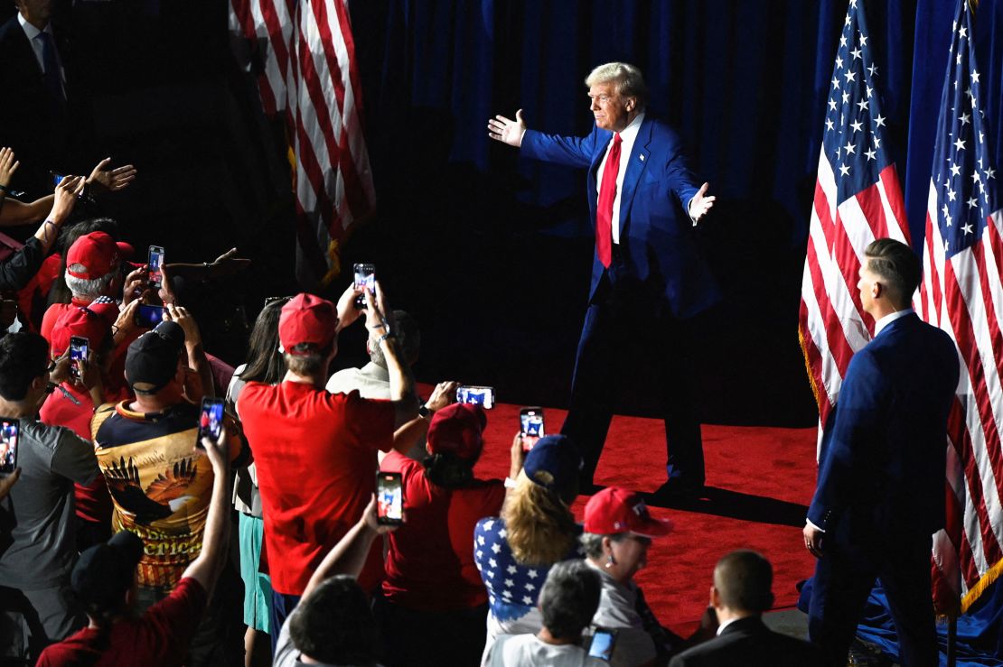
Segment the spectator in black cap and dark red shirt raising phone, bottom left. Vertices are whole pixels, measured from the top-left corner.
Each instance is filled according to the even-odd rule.
[[[71,577],[73,594],[89,624],[46,649],[38,665],[193,664],[186,657],[189,646],[211,609],[209,601],[217,597],[214,589],[227,561],[232,438],[226,430],[217,442],[203,438],[203,451],[196,454],[208,459],[213,470],[205,537],[174,590],[144,611],[137,605],[146,544],[134,533],[121,531],[107,543],[90,547],[80,555]]]

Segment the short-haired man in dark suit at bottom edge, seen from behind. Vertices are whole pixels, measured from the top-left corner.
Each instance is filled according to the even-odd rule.
[[[820,667],[816,646],[773,632],[762,613],[773,604],[773,568],[754,551],[733,551],[717,562],[710,606],[717,637],[683,651],[669,667]]]

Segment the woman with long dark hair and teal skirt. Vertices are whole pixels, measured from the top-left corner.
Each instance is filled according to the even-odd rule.
[[[286,375],[286,363],[279,352],[279,314],[288,296],[270,299],[258,314],[248,341],[248,361],[234,370],[227,389],[227,407],[236,412],[237,397],[249,382],[275,385]],[[272,580],[260,572],[262,538],[265,523],[261,516],[258,472],[251,464],[237,471],[234,484],[234,507],[238,515],[241,545],[241,578],[244,580],[245,665],[270,665],[272,618]],[[278,631],[278,628],[275,629]]]

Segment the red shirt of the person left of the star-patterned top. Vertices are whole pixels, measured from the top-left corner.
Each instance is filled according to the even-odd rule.
[[[477,521],[501,512],[500,480],[444,489],[425,479],[417,461],[391,452],[380,470],[400,473],[407,522],[389,534],[383,595],[421,611],[467,609],[487,602],[473,563]]]

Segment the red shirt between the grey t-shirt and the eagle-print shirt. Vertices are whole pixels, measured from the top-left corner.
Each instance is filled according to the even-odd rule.
[[[63,383],[60,387],[79,401],[80,405],[67,399],[62,392],[53,392],[45,399],[38,412],[42,424],[66,427],[80,438],[89,441],[90,418],[94,416],[94,403],[90,399],[90,392],[70,383]],[[119,393],[124,394],[124,392]],[[125,396],[116,394],[106,398],[108,401],[121,401]],[[103,475],[99,474],[90,484],[73,485],[73,499],[76,516],[80,519],[111,525],[111,497],[108,495],[108,486],[104,483]]]

